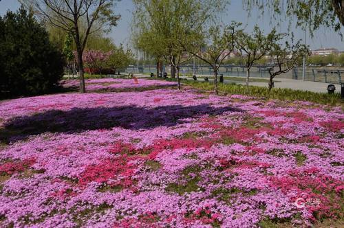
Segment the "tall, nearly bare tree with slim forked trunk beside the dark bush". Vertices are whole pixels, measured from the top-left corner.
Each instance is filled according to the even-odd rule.
[[[116,26],[120,16],[114,14],[116,0],[20,0],[37,16],[54,27],[72,34],[76,44],[80,93],[85,93],[83,52],[89,34]],[[71,26],[72,25],[72,26]],[[85,30],[82,30],[82,28]]]

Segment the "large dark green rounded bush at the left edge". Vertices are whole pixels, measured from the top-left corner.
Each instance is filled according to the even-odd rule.
[[[21,8],[0,17],[0,31],[0,96],[51,92],[64,62],[43,25]]]

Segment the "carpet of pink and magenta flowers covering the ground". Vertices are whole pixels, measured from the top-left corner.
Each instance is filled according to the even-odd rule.
[[[0,117],[0,227],[343,225],[338,106],[156,89]]]

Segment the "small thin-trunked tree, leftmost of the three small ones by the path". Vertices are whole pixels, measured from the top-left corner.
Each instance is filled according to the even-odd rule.
[[[219,67],[221,67],[222,62],[233,52],[235,47],[235,36],[237,33],[237,27],[241,25],[240,23],[232,22],[222,28],[219,25],[214,25],[208,30],[208,45],[206,45],[206,51],[202,53],[202,46],[195,43],[194,48],[199,47],[199,52],[193,52],[192,49],[189,51],[200,60],[203,60],[208,65],[211,66],[214,72],[214,92],[217,95],[219,93],[217,88],[217,75]]]

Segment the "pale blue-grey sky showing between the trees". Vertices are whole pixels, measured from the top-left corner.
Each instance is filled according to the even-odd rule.
[[[8,10],[16,11],[20,7],[17,0],[1,0],[0,1],[0,16],[6,14]],[[133,12],[133,3],[131,0],[119,1],[115,9],[116,14],[121,15],[118,25],[114,27],[107,36],[112,38],[116,44],[130,44],[131,35],[131,19]],[[274,25],[270,22],[270,17],[268,15],[261,16],[259,12],[252,12],[250,16],[242,7],[242,1],[233,0],[226,10],[226,14],[222,16],[222,21],[224,23],[230,23],[230,21],[240,21],[246,25],[247,30],[250,31],[257,24],[261,29],[266,32],[270,32]],[[287,23],[282,23],[281,26],[277,27],[278,32],[288,32]],[[305,32],[300,28],[293,27],[292,32],[297,39],[304,39]],[[344,30],[342,29],[344,34]],[[306,33],[306,43],[310,45],[310,49],[334,47],[339,50],[344,50],[344,41],[338,33],[330,28],[323,28],[314,33],[313,37],[310,37]]]

